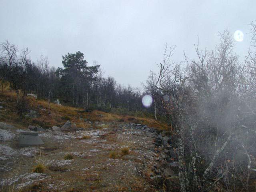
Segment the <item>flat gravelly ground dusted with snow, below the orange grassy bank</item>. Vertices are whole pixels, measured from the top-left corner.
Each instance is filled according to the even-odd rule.
[[[176,150],[165,132],[134,123],[90,123],[83,129],[71,122],[47,130],[30,126],[44,146],[20,148],[24,130],[0,122],[0,190],[178,191]],[[73,159],[65,160],[66,154]],[[43,173],[32,172],[38,163]]]

